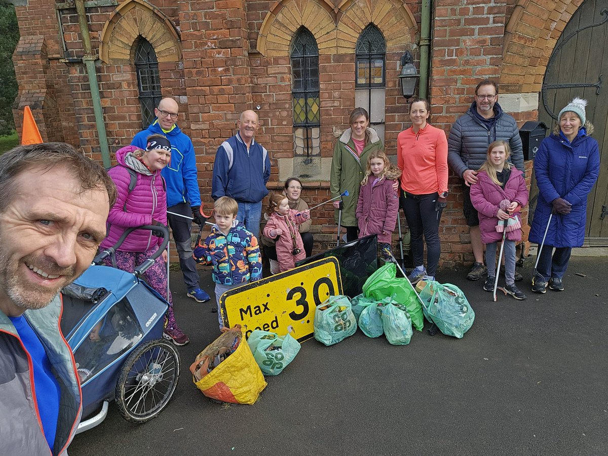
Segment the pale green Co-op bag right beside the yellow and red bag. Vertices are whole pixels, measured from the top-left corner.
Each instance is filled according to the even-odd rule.
[[[247,344],[264,375],[280,374],[300,351],[300,342],[291,334],[278,336],[276,333],[262,330],[252,331]]]

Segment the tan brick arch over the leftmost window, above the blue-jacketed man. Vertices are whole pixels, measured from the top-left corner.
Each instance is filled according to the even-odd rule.
[[[182,59],[179,33],[171,19],[143,0],[128,0],[103,26],[99,50],[103,63],[132,63],[133,43],[140,35],[154,47],[159,62]]]

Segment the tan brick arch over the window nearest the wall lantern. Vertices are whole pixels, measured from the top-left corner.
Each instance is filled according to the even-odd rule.
[[[403,52],[418,27],[410,9],[399,0],[344,0],[337,24],[337,52],[351,54],[359,35],[373,22],[386,40],[387,52]],[[370,20],[371,19],[371,20]]]

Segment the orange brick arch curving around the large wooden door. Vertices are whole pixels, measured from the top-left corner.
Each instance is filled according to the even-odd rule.
[[[501,91],[517,94],[541,90],[551,52],[582,1],[548,0],[541,5],[519,0],[505,27]]]

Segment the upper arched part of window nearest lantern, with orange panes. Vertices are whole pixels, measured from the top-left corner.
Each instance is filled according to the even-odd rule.
[[[357,40],[356,87],[384,87],[386,41],[374,24],[369,24]]]

